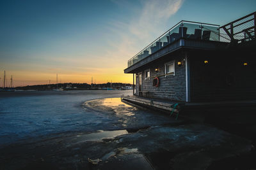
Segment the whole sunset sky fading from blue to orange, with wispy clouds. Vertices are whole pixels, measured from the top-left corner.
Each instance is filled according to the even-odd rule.
[[[132,83],[127,60],[180,20],[227,24],[255,0],[0,1],[0,87]],[[94,81],[93,81],[94,82]]]

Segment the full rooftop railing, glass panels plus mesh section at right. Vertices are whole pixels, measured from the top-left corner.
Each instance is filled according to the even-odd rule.
[[[182,20],[128,60],[128,67],[180,38],[243,43],[255,39],[256,11],[220,25]]]

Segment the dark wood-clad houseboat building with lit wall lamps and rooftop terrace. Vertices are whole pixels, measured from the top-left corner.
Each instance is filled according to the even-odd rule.
[[[173,101],[256,98],[256,12],[220,25],[180,21],[128,60],[134,95]]]

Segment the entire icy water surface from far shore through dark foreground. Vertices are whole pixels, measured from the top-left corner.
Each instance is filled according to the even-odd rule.
[[[206,169],[252,152],[247,139],[134,108],[120,101],[122,94],[131,90],[0,93],[3,169],[13,162],[18,169],[90,169],[88,158],[102,160],[97,169]],[[231,160],[231,167],[239,162]],[[228,166],[215,169],[221,167]]]

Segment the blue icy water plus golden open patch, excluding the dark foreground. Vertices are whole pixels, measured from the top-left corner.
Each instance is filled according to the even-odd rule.
[[[166,116],[141,111],[120,101],[120,96],[131,94],[132,90],[14,92],[4,96],[2,93],[0,145],[19,139],[65,136],[68,132],[115,131],[170,121]]]

